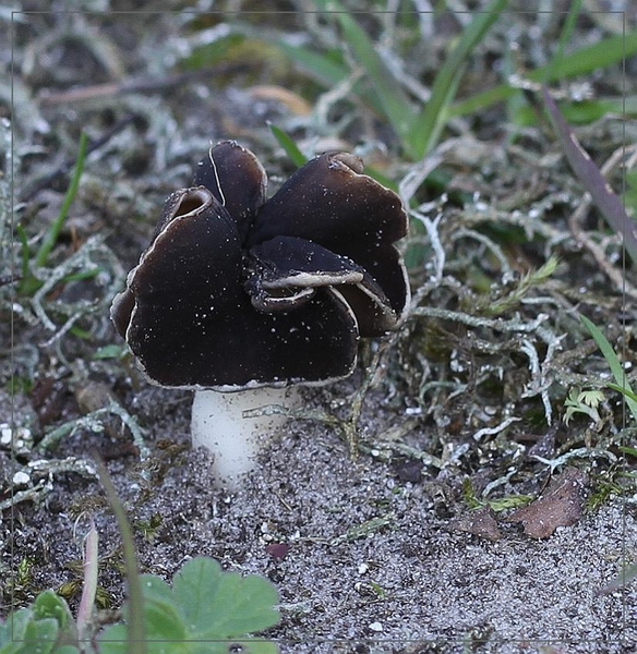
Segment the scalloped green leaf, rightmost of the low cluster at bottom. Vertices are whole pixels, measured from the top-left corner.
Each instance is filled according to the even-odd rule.
[[[279,620],[274,585],[257,576],[223,572],[217,561],[196,557],[176,574],[172,593],[192,639],[233,638]]]

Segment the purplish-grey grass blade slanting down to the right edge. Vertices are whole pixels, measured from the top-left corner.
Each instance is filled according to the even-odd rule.
[[[593,203],[610,227],[615,233],[624,237],[626,251],[633,263],[637,264],[637,225],[626,214],[620,198],[610,190],[600,169],[579,145],[577,137],[562,113],[560,113],[557,105],[555,105],[546,87],[542,87],[542,97],[570,168],[584,187],[591,194]]]

